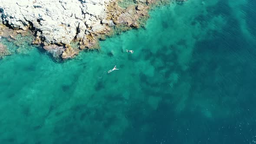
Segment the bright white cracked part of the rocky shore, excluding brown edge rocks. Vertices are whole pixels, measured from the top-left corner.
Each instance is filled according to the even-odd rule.
[[[0,0],[0,16],[4,24],[14,29],[32,26],[41,33],[44,45],[69,44],[75,37],[83,38],[88,28],[95,32],[102,29],[98,25],[107,16],[109,1]]]

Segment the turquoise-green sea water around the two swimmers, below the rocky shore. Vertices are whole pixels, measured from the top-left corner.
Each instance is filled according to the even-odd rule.
[[[172,3],[66,62],[1,39],[0,143],[254,144],[255,7]]]

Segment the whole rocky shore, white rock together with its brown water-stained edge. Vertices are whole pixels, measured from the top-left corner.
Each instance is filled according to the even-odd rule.
[[[84,49],[97,49],[98,39],[114,29],[138,28],[149,8],[170,0],[16,0],[0,1],[0,36],[15,40],[18,34],[35,36],[33,44],[69,59]],[[120,27],[118,27],[120,26]],[[30,32],[28,32],[30,31]],[[71,43],[78,42],[78,48]]]

